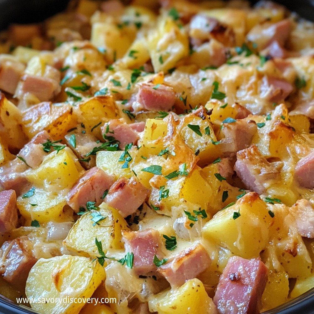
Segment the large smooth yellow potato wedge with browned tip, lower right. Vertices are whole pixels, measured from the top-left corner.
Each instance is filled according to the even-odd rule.
[[[266,203],[257,193],[250,192],[215,214],[203,227],[202,237],[250,259],[259,257],[268,245],[271,222]]]

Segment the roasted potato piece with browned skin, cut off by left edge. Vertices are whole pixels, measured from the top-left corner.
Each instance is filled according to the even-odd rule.
[[[21,149],[27,142],[22,113],[3,94],[0,95],[0,121],[2,123],[0,136],[3,144],[8,145],[9,149]]]

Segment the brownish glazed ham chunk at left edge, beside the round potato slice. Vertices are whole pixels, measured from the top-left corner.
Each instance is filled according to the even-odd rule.
[[[37,262],[26,236],[5,241],[0,248],[0,275],[17,287],[25,286],[30,269]]]

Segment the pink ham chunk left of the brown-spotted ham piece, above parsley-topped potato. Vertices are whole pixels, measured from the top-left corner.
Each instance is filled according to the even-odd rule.
[[[102,202],[102,196],[114,183],[113,176],[93,167],[84,173],[67,195],[67,203],[78,213],[80,207],[86,207],[87,202]]]

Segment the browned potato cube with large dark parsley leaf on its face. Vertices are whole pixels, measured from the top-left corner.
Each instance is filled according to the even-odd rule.
[[[193,152],[199,151],[200,165],[206,165],[220,155],[219,144],[215,144],[217,138],[203,107],[186,115],[178,129],[187,146]]]

